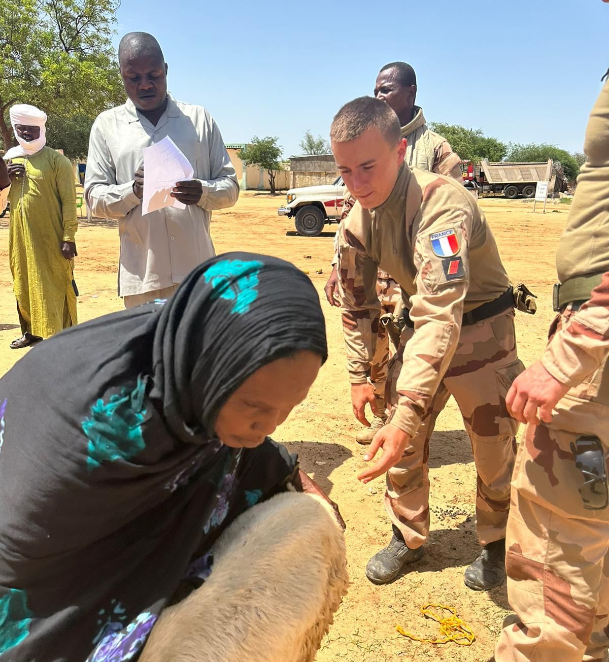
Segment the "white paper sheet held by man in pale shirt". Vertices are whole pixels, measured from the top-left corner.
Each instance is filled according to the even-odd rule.
[[[177,181],[192,179],[195,171],[175,142],[165,136],[160,142],[144,147],[144,195],[142,215],[164,207],[186,209],[186,205],[171,197]]]

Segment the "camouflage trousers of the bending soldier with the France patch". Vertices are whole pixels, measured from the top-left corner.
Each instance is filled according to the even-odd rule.
[[[413,333],[404,328],[400,348],[389,365],[385,393],[390,407],[397,402],[402,355]],[[505,536],[518,430],[506,410],[505,397],[523,369],[516,353],[513,310],[461,329],[457,351],[417,433],[402,460],[387,472],[385,508],[408,547],[420,547],[429,534],[429,442],[436,418],[451,395],[461,410],[476,465],[479,542],[487,545]]]

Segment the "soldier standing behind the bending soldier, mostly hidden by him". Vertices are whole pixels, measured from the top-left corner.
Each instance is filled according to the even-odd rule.
[[[404,158],[408,166],[447,175],[463,183],[459,156],[453,152],[445,138],[428,128],[423,109],[414,105],[416,100],[416,74],[410,64],[406,64],[406,62],[386,64],[377,75],[374,95],[377,99],[385,101],[398,116],[401,127],[400,136],[406,138],[406,155]],[[348,196],[345,199],[341,220],[346,217],[354,204],[355,200],[352,197]],[[335,243],[338,241],[338,232],[337,230]],[[332,306],[340,306],[340,301],[335,297],[338,291],[336,246],[334,246],[334,253],[332,273],[324,289],[328,303]],[[401,299],[400,287],[387,271],[381,271],[380,269],[377,279],[377,295],[381,302],[381,315],[393,314],[398,301]],[[376,413],[373,412],[370,427],[364,428],[355,435],[355,440],[359,444],[369,444],[375,432],[385,424],[387,418],[383,394],[385,393],[385,382],[387,381],[389,345],[387,330],[385,327],[379,326],[376,351],[370,369],[370,378],[376,394]],[[395,352],[393,346],[391,349]],[[393,352],[391,353],[393,354]]]

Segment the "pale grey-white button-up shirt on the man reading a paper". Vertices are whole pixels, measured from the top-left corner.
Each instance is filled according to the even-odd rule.
[[[186,209],[165,207],[142,216],[142,201],[133,192],[134,173],[144,162],[142,148],[165,136],[193,166],[203,195]],[[85,197],[95,216],[118,219],[120,297],[181,283],[214,256],[211,211],[232,207],[238,196],[220,130],[203,106],[169,96],[167,109],[153,126],[128,100],[101,113],[91,128]]]

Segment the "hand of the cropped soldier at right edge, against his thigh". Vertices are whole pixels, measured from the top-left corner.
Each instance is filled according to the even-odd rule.
[[[552,409],[567,391],[568,386],[552,377],[541,361],[536,361],[514,379],[505,403],[516,420],[539,425],[539,419],[544,423],[552,420]]]

